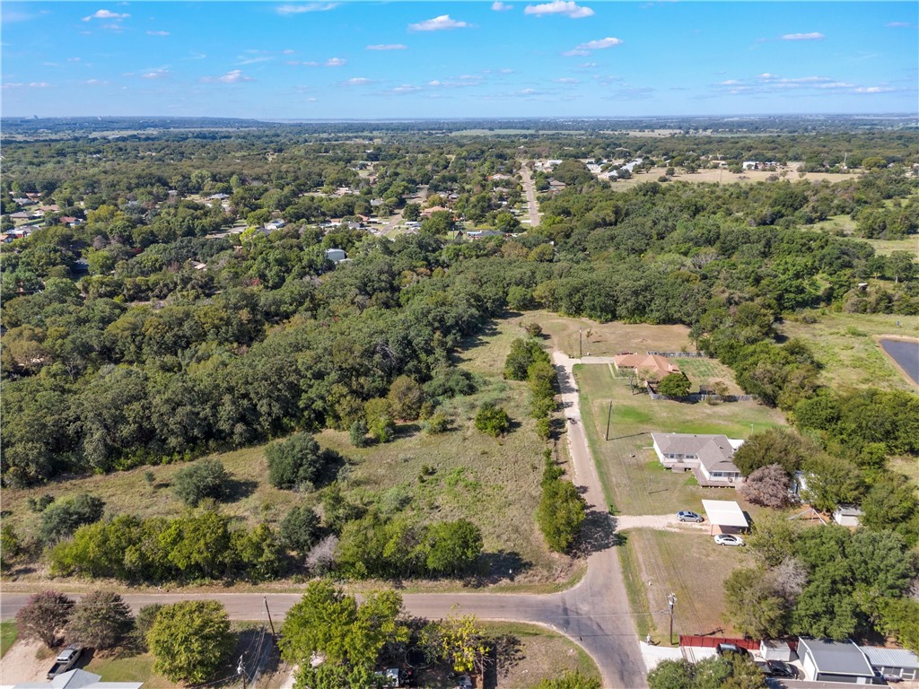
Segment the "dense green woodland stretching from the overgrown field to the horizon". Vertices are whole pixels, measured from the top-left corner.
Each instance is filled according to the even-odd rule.
[[[599,130],[577,139],[484,138],[407,127],[367,136],[278,125],[5,141],[4,485],[285,436],[272,471],[292,478],[278,486],[327,479],[335,457],[322,456],[310,433],[346,430],[357,445],[367,435],[385,442],[393,418],[431,423],[441,401],[474,387],[453,365],[462,338],[508,312],[545,308],[686,324],[743,390],[788,412],[814,444],[823,506],[882,501],[891,491],[877,486],[900,485],[887,458],[919,454],[919,398],[823,389],[808,346],[780,341],[776,325],[815,308],[919,314],[913,254],[877,254],[858,239],[919,231],[919,138],[914,130],[760,126],[760,135],[731,138]],[[517,175],[546,158],[561,163],[537,173],[544,215],[524,232]],[[864,169],[839,181],[776,175],[717,185],[666,175],[622,188],[584,163],[632,158],[686,171],[749,159]],[[407,214],[422,190],[428,212],[418,232],[389,238],[369,229],[369,216]],[[40,220],[13,220],[35,204],[47,209]],[[802,227],[838,216],[853,221],[856,236]],[[31,232],[16,234],[22,227]],[[454,232],[472,228],[497,232],[477,241]],[[333,248],[348,260],[331,261]],[[527,356],[548,367],[538,351]],[[509,378],[529,375],[534,405],[543,400],[537,418],[545,418],[552,390],[539,392],[539,367],[527,373],[533,366],[527,360]],[[750,468],[759,468],[755,460]],[[201,488],[219,483],[221,469],[209,470],[189,479],[189,504],[219,498]],[[561,500],[557,478],[547,466],[544,490]],[[868,526],[913,545],[919,509],[908,492],[896,494],[901,509],[879,508]],[[99,522],[102,508],[90,497],[44,506],[42,520],[51,516],[42,545],[59,573],[270,579],[283,569],[279,553],[305,552],[322,535],[309,510],[289,515],[280,534],[234,531],[210,512]],[[348,504],[334,488],[323,500],[350,576],[456,575],[482,548],[462,520],[410,525]],[[204,533],[223,546],[200,548]],[[13,538],[5,531],[7,543]],[[158,547],[145,547],[152,542]],[[420,545],[398,550],[406,542]],[[125,548],[136,557],[125,559]]]

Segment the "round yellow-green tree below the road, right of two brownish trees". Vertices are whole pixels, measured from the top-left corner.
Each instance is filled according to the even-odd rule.
[[[170,682],[207,682],[233,650],[233,642],[230,617],[216,601],[164,605],[147,634],[153,671]]]

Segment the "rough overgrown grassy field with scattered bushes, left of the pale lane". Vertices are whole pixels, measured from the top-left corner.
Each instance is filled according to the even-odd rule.
[[[448,433],[428,435],[420,424],[401,424],[393,442],[359,449],[350,445],[346,433],[326,430],[317,439],[348,458],[346,491],[355,499],[379,498],[389,505],[403,505],[422,520],[471,519],[482,529],[486,564],[505,577],[495,583],[516,589],[557,588],[577,576],[583,565],[550,552],[533,517],[545,444],[529,418],[527,384],[501,378],[510,344],[522,334],[515,322],[498,322],[465,343],[457,363],[476,376],[479,390],[444,405],[451,419]],[[474,428],[475,412],[485,401],[504,406],[514,421],[512,432],[504,438],[494,439]],[[249,525],[277,524],[291,506],[318,503],[316,491],[278,491],[267,483],[264,446],[214,457],[238,485],[235,499],[222,509]],[[8,518],[17,533],[25,536],[35,533],[40,520],[40,514],[28,510],[28,498],[45,493],[55,498],[93,493],[106,502],[107,514],[180,514],[183,505],[170,483],[182,466],[142,467],[30,490],[5,490],[4,509],[11,513]],[[433,469],[433,474],[422,476],[423,467]],[[147,472],[153,473],[152,483],[145,478]],[[509,579],[508,570],[513,571]],[[43,571],[20,574],[25,582],[34,582]]]

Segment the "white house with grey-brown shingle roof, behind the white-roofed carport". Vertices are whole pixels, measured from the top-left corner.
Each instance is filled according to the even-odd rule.
[[[709,485],[730,486],[743,481],[733,463],[734,450],[743,445],[726,435],[652,433],[654,452],[667,469],[691,469]]]

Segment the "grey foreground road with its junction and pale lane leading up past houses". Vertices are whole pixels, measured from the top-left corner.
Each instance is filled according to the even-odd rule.
[[[584,578],[572,589],[545,595],[527,593],[406,593],[408,612],[423,617],[443,617],[457,606],[487,620],[515,620],[551,627],[580,644],[596,661],[607,689],[638,689],[646,686],[635,625],[629,609],[619,559],[614,548],[615,525],[608,514],[596,466],[587,448],[581,423],[572,368],[576,359],[560,352],[552,356],[562,389],[568,418],[568,442],[573,481],[584,491],[588,517],[584,541],[590,554]],[[139,593],[125,600],[135,610],[151,603],[174,603],[189,599],[216,600],[233,619],[266,620],[267,601],[276,626],[301,596],[296,593]],[[0,597],[0,618],[16,615],[28,599],[26,593]]]

